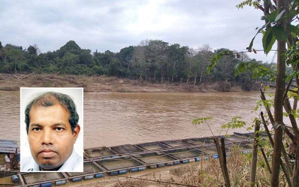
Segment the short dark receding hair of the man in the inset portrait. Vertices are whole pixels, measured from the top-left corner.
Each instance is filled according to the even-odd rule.
[[[60,104],[70,113],[69,123],[71,124],[72,133],[74,132],[75,127],[78,125],[79,115],[76,111],[76,105],[72,98],[66,94],[58,93],[58,92],[46,92],[42,95],[33,99],[26,107],[25,110],[25,123],[26,123],[26,131],[28,134],[29,129],[29,112],[31,107],[33,106],[52,106],[55,104]]]

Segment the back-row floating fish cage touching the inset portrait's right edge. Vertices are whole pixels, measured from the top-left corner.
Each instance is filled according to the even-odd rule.
[[[84,152],[86,158],[109,158],[115,155],[118,155],[118,153],[106,147],[89,148]]]

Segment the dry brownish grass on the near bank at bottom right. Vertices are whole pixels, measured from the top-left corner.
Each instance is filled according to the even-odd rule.
[[[250,180],[251,154],[242,154],[234,151],[227,158],[229,176],[232,187],[247,187]],[[269,187],[270,174],[264,167],[263,157],[258,157],[258,167],[256,175],[256,186]],[[177,184],[184,184],[196,187],[221,187],[225,186],[219,160],[207,159],[200,162],[181,164],[179,167],[164,167],[162,170],[147,170],[141,177],[155,181],[163,181]],[[138,175],[138,174],[137,174]],[[134,176],[132,176],[134,177]],[[286,180],[281,172],[280,186],[286,185]],[[165,183],[157,183],[143,180],[115,178],[110,182],[89,185],[92,187],[175,187]]]

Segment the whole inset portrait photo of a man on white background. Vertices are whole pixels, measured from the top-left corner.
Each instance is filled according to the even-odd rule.
[[[83,88],[20,88],[21,172],[83,172]]]

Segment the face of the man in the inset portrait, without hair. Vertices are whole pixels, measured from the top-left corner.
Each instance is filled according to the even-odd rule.
[[[80,127],[72,133],[69,117],[60,104],[30,109],[28,141],[31,155],[42,170],[57,169],[71,156]]]

